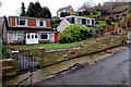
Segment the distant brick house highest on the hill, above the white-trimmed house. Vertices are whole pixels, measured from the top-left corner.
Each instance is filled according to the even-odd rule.
[[[67,12],[67,13],[70,13],[70,14],[73,14],[74,13],[74,10],[71,5],[69,7],[66,7],[66,8],[61,8],[57,11],[57,16],[60,17],[60,14],[63,13],[63,12]]]

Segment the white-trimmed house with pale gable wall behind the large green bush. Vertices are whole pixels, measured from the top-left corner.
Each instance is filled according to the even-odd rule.
[[[70,16],[61,17],[61,20],[62,21],[57,27],[57,32],[63,30],[70,24],[86,25],[87,27],[95,26],[95,18],[84,17],[84,16],[70,15]]]

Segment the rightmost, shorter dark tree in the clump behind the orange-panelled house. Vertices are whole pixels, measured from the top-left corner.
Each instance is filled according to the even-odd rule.
[[[47,7],[41,8],[40,17],[51,18],[51,12]]]

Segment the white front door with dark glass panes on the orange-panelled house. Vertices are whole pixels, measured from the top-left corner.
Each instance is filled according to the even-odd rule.
[[[37,33],[26,33],[26,45],[38,44],[38,34]]]

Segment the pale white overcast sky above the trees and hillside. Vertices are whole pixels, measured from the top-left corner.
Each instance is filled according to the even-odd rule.
[[[21,11],[22,2],[25,3],[25,8],[29,2],[37,2],[41,4],[41,7],[48,7],[52,16],[57,15],[57,10],[60,8],[64,8],[68,5],[72,5],[74,11],[76,11],[83,2],[93,1],[97,3],[103,3],[105,0],[0,0],[2,2],[2,7],[0,8],[0,16],[7,15],[19,15]]]

